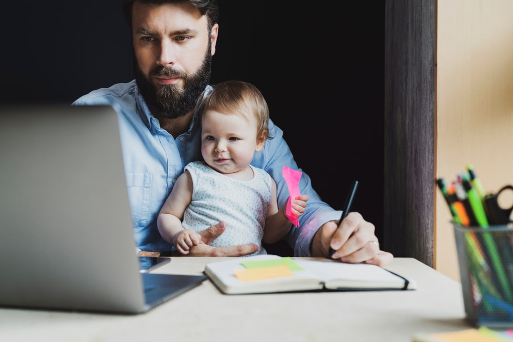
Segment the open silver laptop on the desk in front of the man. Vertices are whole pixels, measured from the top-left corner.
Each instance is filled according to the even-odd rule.
[[[141,273],[116,112],[0,106],[0,306],[141,313],[205,275]]]

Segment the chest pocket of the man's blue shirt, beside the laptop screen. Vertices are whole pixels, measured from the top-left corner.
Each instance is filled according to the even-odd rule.
[[[127,188],[133,224],[145,227],[149,220],[151,173],[128,173]]]

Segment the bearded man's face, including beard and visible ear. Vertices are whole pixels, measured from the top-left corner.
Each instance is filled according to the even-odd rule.
[[[135,2],[135,79],[153,115],[176,118],[196,106],[210,79],[218,26],[189,4]]]

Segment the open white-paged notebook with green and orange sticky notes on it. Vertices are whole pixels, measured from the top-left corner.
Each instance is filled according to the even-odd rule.
[[[415,290],[415,280],[369,264],[255,255],[213,261],[205,274],[225,294]]]

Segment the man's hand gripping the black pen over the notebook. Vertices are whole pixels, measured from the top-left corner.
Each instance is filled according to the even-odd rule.
[[[325,223],[315,234],[311,246],[312,256],[329,257],[329,247],[335,250],[333,259],[345,263],[361,263],[385,266],[393,255],[380,250],[374,225],[357,212],[350,212],[342,221]]]

